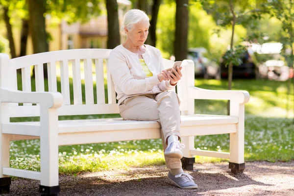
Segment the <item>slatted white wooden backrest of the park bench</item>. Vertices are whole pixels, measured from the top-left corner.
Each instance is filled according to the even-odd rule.
[[[35,91],[39,92],[61,92],[63,106],[58,109],[60,116],[116,114],[119,113],[116,93],[110,72],[108,72],[110,51],[111,49],[71,49],[32,54],[7,61],[0,59],[2,62],[0,68],[2,73],[0,75],[3,72],[5,72],[5,75],[9,75],[9,77],[5,77],[6,79],[0,78],[0,85],[1,87],[19,88],[20,90],[21,87],[18,87],[17,84],[21,83],[23,91],[30,92],[35,87]],[[1,58],[3,58],[3,55],[1,55]],[[6,62],[6,64],[3,65],[3,62]],[[48,87],[43,76],[43,69],[46,64]],[[164,64],[166,68],[170,68],[173,62],[164,59]],[[34,76],[31,76],[33,67],[35,72]],[[21,77],[17,76],[17,69],[21,69]],[[181,111],[188,110],[185,77],[186,74],[183,72],[183,78],[177,85],[177,93],[182,101]],[[59,79],[61,86],[57,85]],[[17,80],[21,80],[21,82]],[[71,80],[72,82],[70,82]],[[35,81],[35,84],[32,81]],[[107,85],[104,86],[104,83],[107,83]],[[96,88],[94,88],[95,86]],[[73,88],[73,94],[71,94],[71,88]],[[71,98],[73,102],[71,102]],[[9,108],[10,117],[40,115],[39,105],[35,104],[24,103],[24,105],[19,105],[18,103],[11,103]]]

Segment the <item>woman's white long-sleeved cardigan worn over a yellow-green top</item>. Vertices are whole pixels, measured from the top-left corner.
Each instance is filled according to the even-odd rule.
[[[138,53],[134,53],[119,45],[109,54],[109,68],[114,82],[119,104],[124,99],[144,94],[157,94],[172,89],[170,81],[160,82],[157,74],[164,70],[159,49],[145,45],[142,54],[146,65],[153,76],[147,77],[140,64]]]

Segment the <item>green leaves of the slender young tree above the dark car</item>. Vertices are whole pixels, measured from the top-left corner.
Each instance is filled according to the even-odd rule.
[[[219,27],[223,29],[234,27],[234,34],[233,32],[230,33],[230,37],[233,37],[231,41],[232,48],[226,51],[223,56],[226,66],[230,63],[240,65],[242,62],[240,55],[244,53],[244,48],[238,43],[241,40],[235,38],[238,25],[249,29],[247,35],[243,36],[242,41],[256,42],[267,36],[266,33],[260,31],[259,27],[259,21],[266,13],[270,12],[266,0],[195,0],[195,2],[201,4],[203,9],[212,15]],[[220,33],[221,30],[216,28],[214,32]],[[235,47],[235,45],[237,46]]]

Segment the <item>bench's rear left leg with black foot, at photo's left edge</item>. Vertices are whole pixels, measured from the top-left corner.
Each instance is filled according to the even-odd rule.
[[[10,167],[9,135],[2,134],[2,123],[9,122],[8,103],[0,103],[0,194],[10,192],[11,178],[3,174],[3,168]]]

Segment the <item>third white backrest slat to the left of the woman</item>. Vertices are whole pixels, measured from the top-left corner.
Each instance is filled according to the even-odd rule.
[[[84,59],[86,104],[94,104],[92,59]]]

